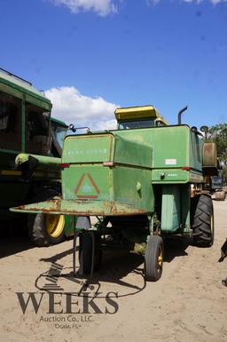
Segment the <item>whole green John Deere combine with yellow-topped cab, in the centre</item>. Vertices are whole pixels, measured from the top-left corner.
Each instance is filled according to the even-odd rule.
[[[74,274],[79,235],[79,274],[92,274],[103,250],[123,248],[143,254],[146,280],[157,281],[164,238],[192,236],[204,247],[214,241],[213,204],[204,189],[216,173],[215,145],[181,124],[182,112],[177,125],[168,125],[153,106],[118,108],[117,130],[67,136],[62,199],[12,211],[78,216]]]

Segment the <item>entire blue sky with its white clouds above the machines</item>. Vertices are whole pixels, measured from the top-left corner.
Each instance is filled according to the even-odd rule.
[[[0,66],[94,128],[153,104],[169,123],[227,122],[227,1],[0,0]]]

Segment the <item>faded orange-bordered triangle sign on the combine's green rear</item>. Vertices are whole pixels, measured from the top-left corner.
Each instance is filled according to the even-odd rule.
[[[96,199],[100,191],[90,173],[83,173],[74,193],[79,199]]]

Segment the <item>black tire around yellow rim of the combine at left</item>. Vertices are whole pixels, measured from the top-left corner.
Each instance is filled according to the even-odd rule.
[[[46,189],[33,199],[34,203],[43,202],[50,200],[51,198],[58,196],[59,194],[51,189]],[[61,232],[59,236],[53,237],[49,235],[45,227],[45,214],[29,214],[27,215],[27,229],[28,235],[35,246],[37,247],[48,247],[53,244],[62,243],[65,238],[65,231]]]

